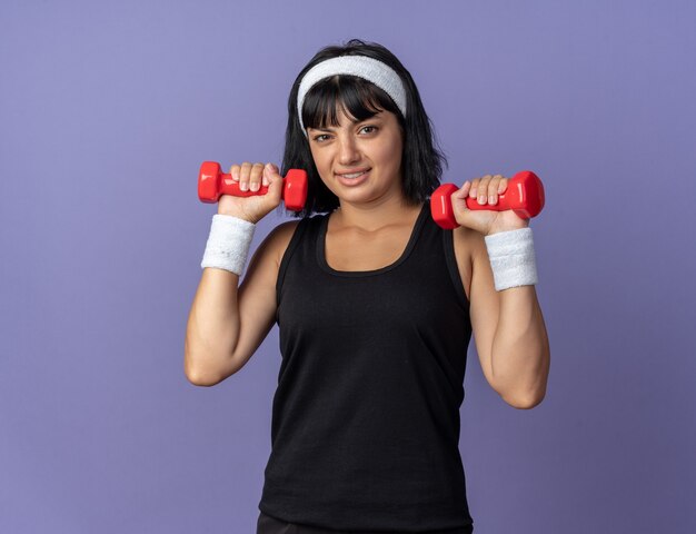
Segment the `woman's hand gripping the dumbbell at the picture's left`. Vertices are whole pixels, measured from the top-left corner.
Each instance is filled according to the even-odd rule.
[[[258,222],[269,211],[278,207],[282,198],[282,177],[279,169],[274,164],[250,164],[245,161],[241,165],[232,165],[230,175],[237,181],[239,189],[258,191],[261,186],[268,186],[265,195],[252,195],[250,197],[235,197],[232,195],[221,195],[218,200],[218,214],[231,215],[249,222]]]

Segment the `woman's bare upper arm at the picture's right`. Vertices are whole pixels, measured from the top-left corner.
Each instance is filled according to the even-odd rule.
[[[494,285],[486,241],[480,233],[466,227],[454,230],[454,240],[461,281],[465,287],[469,284],[469,317],[476,352],[486,380],[496,389],[491,354],[500,314],[500,297]]]

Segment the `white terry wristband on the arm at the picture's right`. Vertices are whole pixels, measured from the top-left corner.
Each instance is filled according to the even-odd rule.
[[[485,239],[497,291],[538,283],[531,228],[500,231]]]

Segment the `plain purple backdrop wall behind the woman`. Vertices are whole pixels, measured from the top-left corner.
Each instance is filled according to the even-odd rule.
[[[0,532],[255,532],[277,328],[220,385],[186,380],[216,212],[197,171],[280,164],[297,72],[354,37],[414,76],[444,181],[546,186],[548,392],[509,407],[471,344],[476,532],[696,532],[695,21],[688,1],[3,0]]]

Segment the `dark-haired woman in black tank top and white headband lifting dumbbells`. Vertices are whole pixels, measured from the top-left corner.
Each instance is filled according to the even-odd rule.
[[[233,165],[242,190],[213,216],[190,310],[185,370],[211,386],[275,323],[280,365],[259,534],[471,533],[458,448],[471,334],[484,375],[517,408],[541,402],[549,346],[531,229],[497,202],[500,175],[429,195],[443,154],[410,73],[386,48],[320,50],[288,101],[282,174],[308,171],[299,220],[278,225],[243,270],[255,225],[279,206],[271,164]]]

